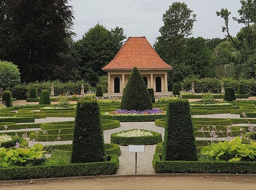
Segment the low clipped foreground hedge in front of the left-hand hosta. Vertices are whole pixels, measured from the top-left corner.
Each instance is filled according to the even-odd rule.
[[[0,180],[113,175],[119,160],[117,155],[109,157],[110,161],[105,162],[0,168]]]

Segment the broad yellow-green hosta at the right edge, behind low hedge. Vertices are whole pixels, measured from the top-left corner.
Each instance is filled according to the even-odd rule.
[[[231,141],[211,143],[210,146],[203,147],[201,153],[217,161],[255,161],[256,142],[250,144],[241,143],[242,139],[238,136]]]

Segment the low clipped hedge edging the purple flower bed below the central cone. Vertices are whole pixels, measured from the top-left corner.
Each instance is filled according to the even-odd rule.
[[[163,119],[164,115],[128,115],[128,116],[118,116],[118,115],[101,115],[101,119],[113,119],[119,122],[153,122],[156,119]]]

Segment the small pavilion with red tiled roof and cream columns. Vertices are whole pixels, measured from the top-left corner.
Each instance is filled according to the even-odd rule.
[[[169,95],[167,72],[172,67],[164,62],[146,37],[129,37],[116,57],[105,67],[108,72],[108,94],[122,96],[123,88],[134,67],[140,73],[148,88],[153,88],[155,95]]]

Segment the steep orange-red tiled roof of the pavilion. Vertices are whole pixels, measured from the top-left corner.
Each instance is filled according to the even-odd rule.
[[[129,37],[116,57],[102,70],[169,69],[172,67],[164,62],[145,36]]]

